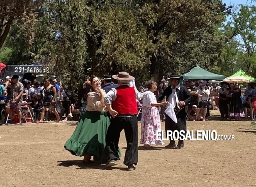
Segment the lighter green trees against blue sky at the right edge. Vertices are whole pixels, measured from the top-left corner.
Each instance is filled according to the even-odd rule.
[[[234,9],[231,19],[224,24],[223,32],[227,36],[227,46],[223,51],[222,69],[227,71],[229,64],[231,72],[239,69],[252,76],[256,76],[256,6],[255,2],[250,5],[238,5]]]

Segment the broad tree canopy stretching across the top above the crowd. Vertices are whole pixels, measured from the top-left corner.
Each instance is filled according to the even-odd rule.
[[[255,68],[253,4],[234,8],[221,0],[22,2],[31,7],[26,10],[31,12],[29,21],[12,21],[0,60],[48,65],[68,89],[78,88],[91,74],[128,71],[138,81],[159,81],[193,65],[227,76],[243,63],[245,71]]]

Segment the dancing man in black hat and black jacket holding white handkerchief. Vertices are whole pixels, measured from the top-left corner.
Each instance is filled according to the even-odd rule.
[[[174,132],[177,131],[185,131],[187,129],[186,119],[187,119],[187,113],[185,110],[185,105],[190,103],[193,99],[193,96],[190,95],[188,92],[188,89],[180,85],[179,83],[179,76],[171,76],[170,77],[170,83],[171,85],[168,86],[163,94],[158,98],[158,102],[161,102],[164,97],[166,96],[166,101],[168,101],[172,106],[174,107],[175,115],[177,118],[177,123],[175,123],[170,116],[166,115],[165,118],[165,131],[167,136],[167,131]],[[175,145],[174,140],[170,140],[170,144],[167,145],[167,148],[182,148],[184,146],[184,142],[182,140],[179,140],[178,145]]]

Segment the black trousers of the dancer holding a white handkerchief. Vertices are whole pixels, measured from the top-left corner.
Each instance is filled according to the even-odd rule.
[[[166,115],[165,118],[165,134],[167,137],[167,131],[187,131],[187,121],[186,121],[186,116],[181,117],[181,116],[177,116],[177,123],[175,123],[168,115]],[[170,140],[170,143],[171,140]]]

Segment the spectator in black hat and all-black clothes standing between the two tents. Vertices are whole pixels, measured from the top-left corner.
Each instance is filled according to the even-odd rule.
[[[222,85],[222,88],[218,90],[218,93],[219,93],[218,105],[220,110],[220,119],[224,120],[228,118],[228,108],[227,108],[228,98],[226,97],[226,95],[227,95],[227,85],[229,83],[222,82],[220,84]]]

